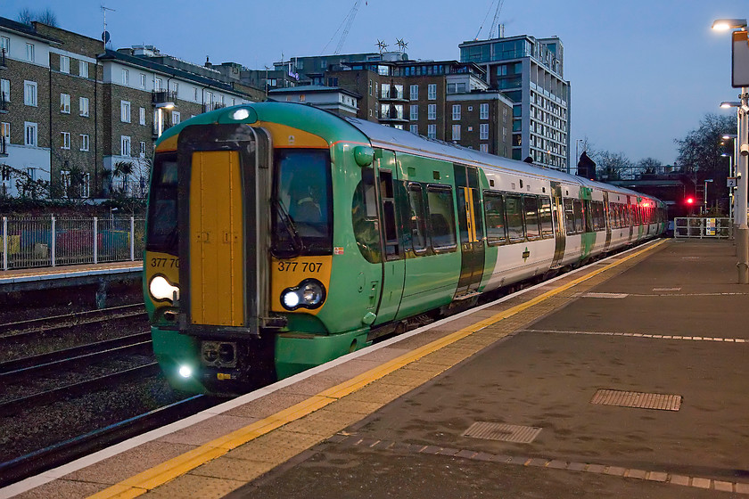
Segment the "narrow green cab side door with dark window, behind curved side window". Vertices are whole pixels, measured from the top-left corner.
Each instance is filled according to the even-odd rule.
[[[375,151],[377,170],[377,199],[381,220],[380,238],[383,248],[383,274],[380,282],[380,301],[374,325],[386,323],[395,318],[403,296],[406,279],[406,262],[403,258],[400,237],[400,221],[396,196],[399,189],[398,168],[395,153]]]

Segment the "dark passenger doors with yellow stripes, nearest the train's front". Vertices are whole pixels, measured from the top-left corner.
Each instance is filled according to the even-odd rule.
[[[478,170],[463,165],[454,165],[453,168],[461,253],[460,278],[455,293],[458,298],[479,289],[484,267],[484,238]]]

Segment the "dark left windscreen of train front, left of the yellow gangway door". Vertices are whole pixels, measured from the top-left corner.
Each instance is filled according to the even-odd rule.
[[[157,154],[149,200],[148,248],[177,255],[177,156]]]

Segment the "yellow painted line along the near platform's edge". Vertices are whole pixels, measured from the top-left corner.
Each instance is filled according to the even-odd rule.
[[[255,421],[252,424],[236,429],[235,431],[223,436],[211,440],[210,442],[203,444],[202,446],[196,447],[195,449],[180,454],[177,457],[170,459],[169,461],[162,462],[161,464],[154,466],[149,470],[142,471],[119,482],[116,485],[105,488],[104,490],[90,495],[88,499],[132,499],[139,495],[144,495],[149,490],[159,487],[169,480],[176,479],[177,477],[184,475],[185,473],[194,470],[195,468],[210,462],[223,454],[226,454],[230,450],[242,446],[247,442],[255,438],[259,438],[274,429],[278,429],[284,424],[299,420],[300,418],[317,411],[325,405],[332,404],[339,398],[345,397],[354,393],[358,389],[362,389],[369,383],[375,380],[383,378],[385,375],[395,372],[401,367],[411,364],[416,360],[436,352],[440,348],[447,347],[448,345],[455,343],[459,339],[463,339],[470,336],[476,331],[481,331],[494,323],[506,319],[512,315],[523,312],[530,307],[538,305],[540,302],[549,299],[565,290],[580,284],[581,282],[588,281],[598,274],[602,274],[607,270],[610,270],[616,266],[629,261],[631,258],[637,258],[639,255],[651,251],[662,245],[667,240],[655,242],[653,245],[648,246],[645,249],[640,249],[625,258],[621,258],[613,262],[612,264],[599,268],[589,274],[585,274],[577,279],[572,280],[563,284],[555,290],[548,290],[545,293],[539,295],[534,299],[530,299],[525,303],[517,305],[515,307],[508,308],[507,310],[500,312],[497,315],[492,315],[488,319],[483,319],[477,323],[473,323],[465,328],[450,333],[449,335],[435,339],[431,343],[424,345],[423,347],[416,348],[415,350],[396,357],[391,361],[388,361],[382,365],[379,365],[367,372],[363,372],[358,376],[350,380],[343,381],[342,383],[330,388],[325,389],[315,396],[309,397],[307,400],[300,402],[299,404],[292,405],[283,411],[272,414],[267,418],[260,421]]]

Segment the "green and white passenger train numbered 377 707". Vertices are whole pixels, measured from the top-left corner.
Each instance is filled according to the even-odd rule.
[[[653,197],[309,105],[213,110],[155,144],[153,350],[177,389],[243,393],[666,225]]]

